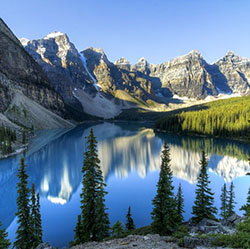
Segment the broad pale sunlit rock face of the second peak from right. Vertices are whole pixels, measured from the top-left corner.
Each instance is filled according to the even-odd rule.
[[[198,51],[191,51],[166,63],[149,65],[149,71],[150,75],[161,80],[161,87],[168,89],[172,95],[204,98],[218,93],[208,67]]]

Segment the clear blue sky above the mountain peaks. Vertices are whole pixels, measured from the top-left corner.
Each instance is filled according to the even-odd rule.
[[[114,61],[161,63],[198,49],[209,62],[229,50],[250,57],[249,0],[1,0],[18,37],[68,34],[78,50],[104,49]]]

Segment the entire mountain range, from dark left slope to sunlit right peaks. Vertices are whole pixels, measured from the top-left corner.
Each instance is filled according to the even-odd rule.
[[[250,92],[250,59],[233,52],[212,65],[196,50],[162,64],[141,58],[131,65],[125,58],[110,62],[102,49],[78,52],[61,32],[18,40],[0,20],[0,35],[0,112],[15,123],[37,127],[46,112],[41,127],[72,125],[65,119],[84,120],[86,113],[113,118],[124,109],[167,111]],[[32,113],[29,101],[39,105]]]

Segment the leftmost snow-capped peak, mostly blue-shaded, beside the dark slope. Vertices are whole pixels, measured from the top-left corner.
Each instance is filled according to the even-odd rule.
[[[82,110],[74,89],[90,87],[93,80],[86,72],[82,58],[66,34],[53,32],[43,39],[22,40],[26,51],[40,64],[64,101]],[[92,89],[93,90],[93,89]]]

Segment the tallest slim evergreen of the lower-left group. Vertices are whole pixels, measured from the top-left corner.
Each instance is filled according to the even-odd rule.
[[[28,188],[28,175],[26,174],[26,165],[24,158],[21,158],[21,166],[18,170],[18,178],[20,182],[17,183],[17,223],[18,228],[16,231],[16,241],[14,247],[17,249],[30,249],[32,229],[30,226],[30,206]]]

